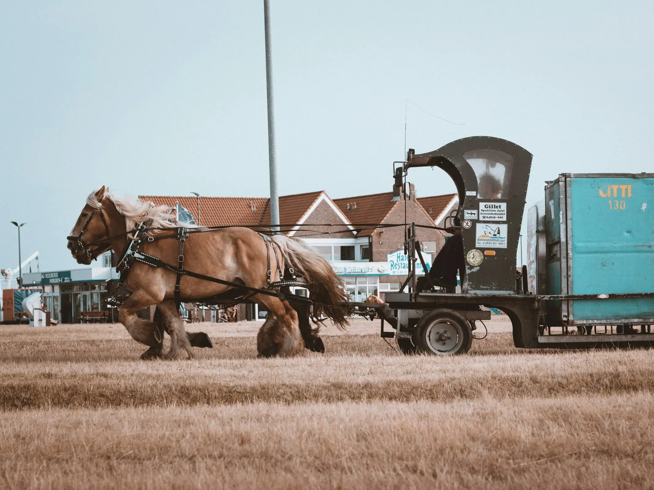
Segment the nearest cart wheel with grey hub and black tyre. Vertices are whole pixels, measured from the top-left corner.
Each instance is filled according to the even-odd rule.
[[[428,354],[462,354],[472,345],[470,323],[454,310],[430,311],[418,321],[416,329],[417,345]]]

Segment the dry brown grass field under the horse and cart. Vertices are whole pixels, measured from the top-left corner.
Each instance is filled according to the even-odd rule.
[[[122,325],[0,327],[0,488],[653,487],[650,350],[403,356],[378,323],[256,359],[259,324],[139,361]]]

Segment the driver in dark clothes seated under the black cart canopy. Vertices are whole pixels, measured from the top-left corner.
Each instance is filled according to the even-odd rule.
[[[463,258],[463,239],[461,238],[460,220],[454,218],[454,226],[446,229],[452,236],[445,238],[445,244],[436,255],[431,269],[427,272],[434,286],[441,286],[447,289],[448,293],[456,291],[456,271],[463,277],[466,264]],[[430,289],[426,278],[419,278],[417,283],[418,291]]]

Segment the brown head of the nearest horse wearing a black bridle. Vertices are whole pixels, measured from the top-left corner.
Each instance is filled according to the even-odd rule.
[[[93,259],[111,248],[109,225],[102,209],[105,186],[95,193],[96,206],[86,203],[68,237],[68,248],[78,264],[89,265]]]

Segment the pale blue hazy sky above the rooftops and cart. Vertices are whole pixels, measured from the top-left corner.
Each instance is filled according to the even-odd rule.
[[[512,140],[560,172],[651,171],[654,2],[271,0],[280,193],[388,191],[407,146]],[[263,5],[0,7],[0,268],[76,267],[89,191],[267,196]],[[415,172],[419,195],[453,190]]]

